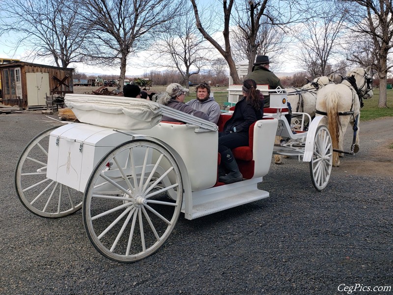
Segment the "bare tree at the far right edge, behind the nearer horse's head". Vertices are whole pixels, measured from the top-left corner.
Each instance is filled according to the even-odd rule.
[[[348,59],[363,66],[371,65],[378,74],[380,108],[387,107],[387,75],[393,67],[392,59],[388,56],[393,47],[393,6],[392,0],[343,0],[352,4],[349,21],[352,32],[359,36],[357,47],[360,49],[365,40],[371,39],[372,44],[365,48],[365,57],[357,50]],[[350,48],[353,50],[353,47]]]

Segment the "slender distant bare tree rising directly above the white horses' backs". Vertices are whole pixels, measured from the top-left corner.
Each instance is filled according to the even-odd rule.
[[[340,42],[348,10],[332,9],[332,4],[330,0],[313,3],[308,9],[310,18],[292,30],[296,44],[300,44],[296,59],[311,77],[332,73],[332,64],[343,56]]]

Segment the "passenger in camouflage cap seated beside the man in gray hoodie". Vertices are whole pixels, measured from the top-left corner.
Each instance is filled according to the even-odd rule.
[[[157,93],[153,96],[152,100],[156,101],[158,103],[161,103],[163,105],[166,105],[169,108],[181,111],[183,113],[187,113],[190,115],[193,115],[195,117],[204,119],[204,120],[209,120],[209,117],[201,112],[193,109],[192,107],[186,105],[184,103],[184,98],[186,96],[186,93],[189,90],[186,88],[183,88],[180,84],[177,83],[172,83],[169,84],[167,87],[167,90],[165,92]],[[181,122],[175,118],[170,118],[167,116],[163,116],[161,119],[162,121],[171,121],[171,122]]]

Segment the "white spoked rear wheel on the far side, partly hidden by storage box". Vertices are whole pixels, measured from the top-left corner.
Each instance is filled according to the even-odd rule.
[[[50,128],[27,145],[15,170],[19,200],[32,213],[48,218],[63,217],[82,207],[83,193],[46,177]]]

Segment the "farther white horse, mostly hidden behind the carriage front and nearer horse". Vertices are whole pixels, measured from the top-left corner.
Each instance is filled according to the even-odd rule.
[[[286,88],[287,101],[291,104],[292,112],[307,113],[311,118],[314,118],[316,93],[319,89],[330,83],[331,78],[322,76],[315,78],[312,82],[301,88]],[[308,117],[305,118],[305,122],[303,123],[309,123]],[[280,140],[281,138],[276,138],[275,143],[279,144]],[[282,155],[274,155],[274,163],[282,164]]]

